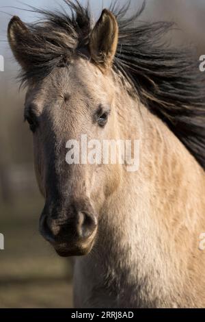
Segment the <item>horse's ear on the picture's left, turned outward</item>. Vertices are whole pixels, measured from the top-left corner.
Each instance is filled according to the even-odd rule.
[[[29,29],[26,25],[18,16],[13,16],[8,25],[8,41],[14,57],[25,70],[27,69],[28,64],[25,47],[27,45],[27,40],[29,40],[29,36],[31,35],[29,34]]]

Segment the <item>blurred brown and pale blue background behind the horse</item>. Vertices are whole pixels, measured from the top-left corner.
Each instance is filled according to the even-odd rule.
[[[62,0],[24,0],[38,8],[58,8]],[[86,1],[80,0],[81,3]],[[119,4],[127,1],[119,0]],[[130,12],[141,0],[131,1]],[[23,11],[25,3],[0,1],[0,55],[5,71],[0,71],[0,233],[5,250],[0,250],[0,308],[72,307],[72,267],[38,233],[38,219],[44,201],[38,193],[33,172],[32,138],[23,123],[25,92],[18,91],[18,66],[6,40],[12,15],[25,22],[38,16]],[[98,18],[111,1],[91,0]],[[180,28],[170,34],[175,45],[193,45],[196,59],[205,54],[205,0],[147,0],[144,21],[175,21]]]

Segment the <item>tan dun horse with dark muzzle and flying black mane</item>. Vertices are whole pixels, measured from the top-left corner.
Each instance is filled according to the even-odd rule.
[[[27,88],[40,233],[74,258],[75,308],[205,306],[204,74],[194,51],[165,43],[172,23],[116,3],[14,16],[10,47]],[[69,140],[138,140],[127,162],[66,162]],[[117,151],[119,154],[119,149]]]

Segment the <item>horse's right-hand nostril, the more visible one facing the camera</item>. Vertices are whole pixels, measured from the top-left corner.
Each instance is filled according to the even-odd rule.
[[[89,238],[96,229],[96,225],[94,215],[87,212],[78,213],[77,231],[81,238]]]

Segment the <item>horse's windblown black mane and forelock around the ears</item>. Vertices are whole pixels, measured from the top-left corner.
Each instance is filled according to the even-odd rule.
[[[31,10],[44,19],[29,24],[32,36],[19,51],[29,57],[31,69],[21,73],[23,83],[48,75],[55,66],[82,55],[93,27],[89,6],[64,0],[69,12]],[[205,169],[205,78],[191,50],[170,49],[162,40],[172,23],[142,23],[143,11],[126,18],[128,5],[110,10],[119,24],[118,51],[113,69],[131,82],[147,108],[163,119]]]

